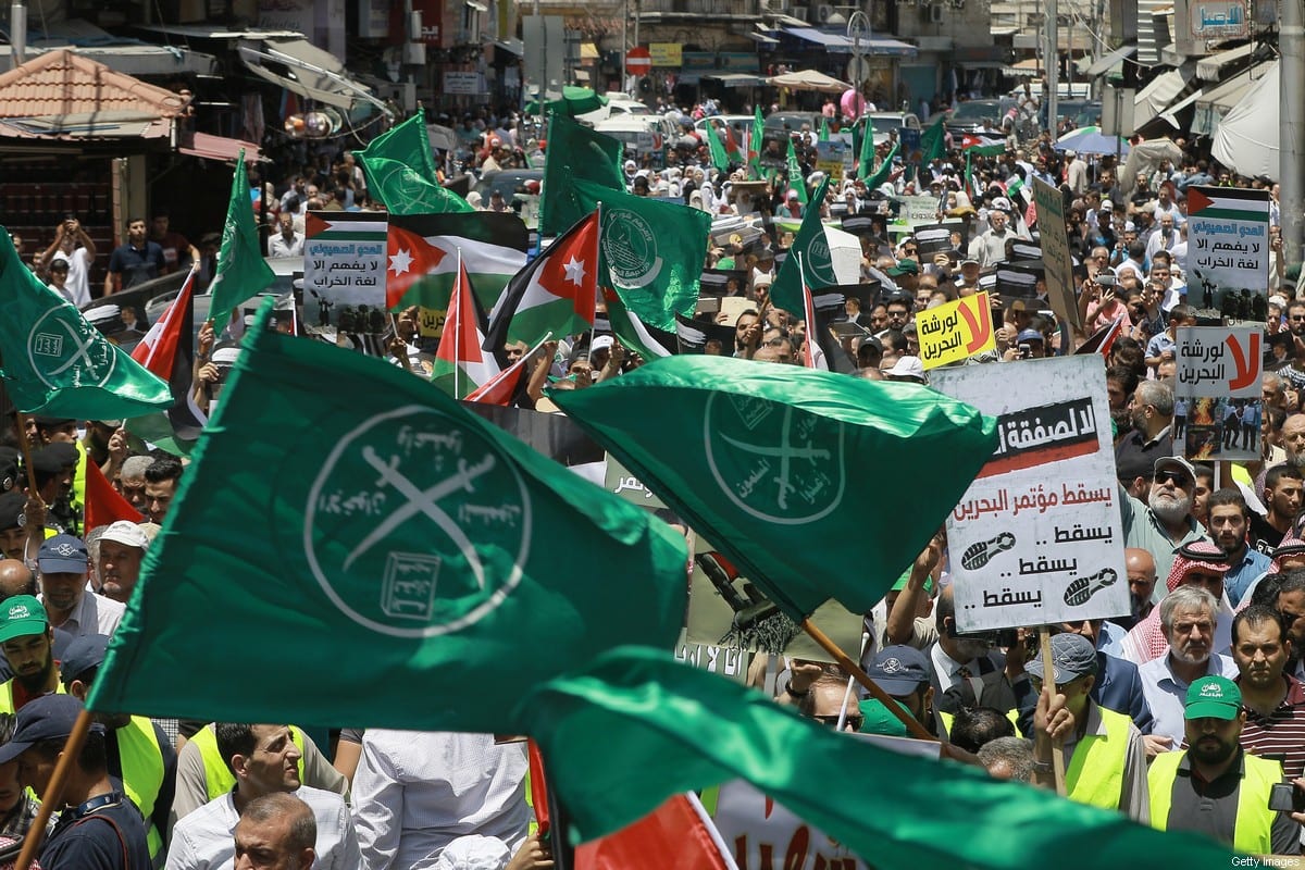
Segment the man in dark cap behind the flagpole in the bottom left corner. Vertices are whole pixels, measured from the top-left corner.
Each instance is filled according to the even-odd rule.
[[[0,764],[17,760],[18,779],[47,800],[55,764],[82,712],[70,695],[44,695],[18,711],[10,740],[0,746]],[[77,763],[68,770],[59,823],[38,856],[46,870],[141,870],[150,866],[145,822],[114,788],[104,753],[104,727],[93,723]]]

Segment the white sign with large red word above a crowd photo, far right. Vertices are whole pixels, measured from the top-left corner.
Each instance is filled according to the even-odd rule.
[[[1263,355],[1258,326],[1177,333],[1174,441],[1191,459],[1259,459]],[[1186,413],[1177,413],[1180,410]]]

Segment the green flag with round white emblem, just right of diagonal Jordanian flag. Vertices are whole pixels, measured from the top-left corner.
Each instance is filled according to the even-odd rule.
[[[675,333],[675,314],[693,317],[711,215],[676,202],[576,181],[589,210],[603,205],[598,283],[620,293],[643,323]]]

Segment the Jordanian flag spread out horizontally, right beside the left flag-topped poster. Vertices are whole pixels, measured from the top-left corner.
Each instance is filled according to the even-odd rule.
[[[385,304],[445,310],[461,249],[476,299],[488,310],[526,265],[527,245],[526,224],[514,214],[392,214]]]

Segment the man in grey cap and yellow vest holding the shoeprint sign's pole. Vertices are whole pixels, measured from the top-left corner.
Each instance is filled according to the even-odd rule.
[[[1051,771],[1052,747],[1065,753],[1066,797],[1108,810],[1126,813],[1135,822],[1147,820],[1146,745],[1142,732],[1126,715],[1101,707],[1091,698],[1096,683],[1096,647],[1081,634],[1052,637],[1054,686],[1043,687],[1043,653],[1024,664],[1034,689],[1040,693],[1034,712],[1035,771],[1044,779]],[[1052,697],[1064,704],[1048,715]],[[1062,728],[1065,712],[1073,728]]]

